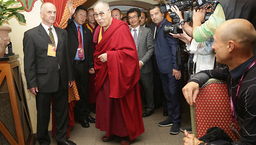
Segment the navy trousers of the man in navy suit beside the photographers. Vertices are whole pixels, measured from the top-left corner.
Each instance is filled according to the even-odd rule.
[[[181,122],[181,80],[176,80],[171,74],[159,73],[165,98],[167,100],[168,116],[174,123]]]

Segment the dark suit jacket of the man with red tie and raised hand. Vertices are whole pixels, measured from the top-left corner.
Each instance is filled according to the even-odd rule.
[[[73,20],[69,19],[68,26],[66,28],[68,32],[68,51],[71,56],[71,60],[74,61],[76,51],[78,50],[78,30],[76,29],[75,23]],[[85,52],[85,78],[88,81],[88,72],[89,69],[93,68],[93,53],[92,53],[92,32],[88,28],[82,25],[82,35],[84,39],[84,52]]]

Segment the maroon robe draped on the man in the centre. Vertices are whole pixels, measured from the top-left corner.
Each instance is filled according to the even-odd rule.
[[[99,29],[100,26],[95,31],[94,42],[98,42]],[[107,62],[102,63],[98,56],[105,52]],[[95,126],[106,131],[107,136],[129,134],[133,140],[144,132],[138,62],[129,26],[113,18],[94,53],[95,92],[98,94]]]

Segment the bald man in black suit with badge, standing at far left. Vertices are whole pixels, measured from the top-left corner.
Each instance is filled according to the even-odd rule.
[[[56,7],[52,3],[43,3],[40,15],[42,23],[24,32],[23,38],[25,77],[29,91],[36,95],[37,141],[50,144],[48,123],[53,98],[57,144],[75,144],[67,140],[68,87],[74,80],[67,32],[54,27]]]

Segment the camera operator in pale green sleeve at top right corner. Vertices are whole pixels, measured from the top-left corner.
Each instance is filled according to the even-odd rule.
[[[193,37],[196,42],[203,42],[214,35],[220,24],[228,19],[244,18],[256,27],[256,3],[251,0],[219,0],[214,13],[204,22],[206,10],[194,10]],[[203,24],[201,24],[204,22]]]

